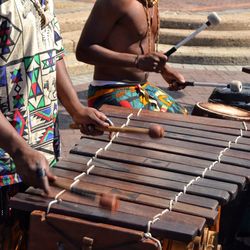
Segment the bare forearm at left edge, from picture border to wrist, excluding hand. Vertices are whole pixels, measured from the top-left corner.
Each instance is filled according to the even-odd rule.
[[[14,156],[20,149],[27,146],[28,144],[0,112],[0,148]]]

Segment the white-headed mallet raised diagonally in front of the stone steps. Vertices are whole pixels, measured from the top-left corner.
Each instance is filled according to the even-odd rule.
[[[177,49],[179,49],[182,45],[186,44],[188,41],[193,39],[197,34],[199,34],[201,31],[205,30],[207,27],[211,25],[218,25],[221,22],[220,17],[217,15],[216,12],[213,12],[208,15],[207,17],[208,21],[204,23],[200,28],[198,28],[196,31],[194,31],[192,34],[190,34],[188,37],[180,41],[177,45],[172,47],[170,50],[168,50],[165,55],[169,57],[172,55]]]

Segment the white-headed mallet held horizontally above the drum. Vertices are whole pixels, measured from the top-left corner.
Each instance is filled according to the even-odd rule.
[[[215,83],[215,82],[185,82],[186,86],[200,86],[213,88],[229,88],[232,92],[241,92],[242,83],[240,81],[232,81],[231,83]]]

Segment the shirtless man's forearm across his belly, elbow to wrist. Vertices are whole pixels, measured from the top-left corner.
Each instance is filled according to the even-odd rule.
[[[137,54],[112,51],[98,44],[88,47],[78,45],[76,58],[97,66],[136,67],[137,63]]]

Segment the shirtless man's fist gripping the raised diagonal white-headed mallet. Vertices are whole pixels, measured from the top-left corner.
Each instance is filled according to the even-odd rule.
[[[160,73],[164,69],[167,60],[167,56],[163,53],[153,52],[147,55],[139,55],[136,66],[143,71]]]

